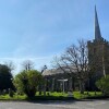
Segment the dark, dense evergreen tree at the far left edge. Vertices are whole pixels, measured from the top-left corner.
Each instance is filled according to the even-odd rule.
[[[9,66],[5,64],[0,64],[0,90],[9,88],[14,89],[12,78],[13,76],[10,72]]]

